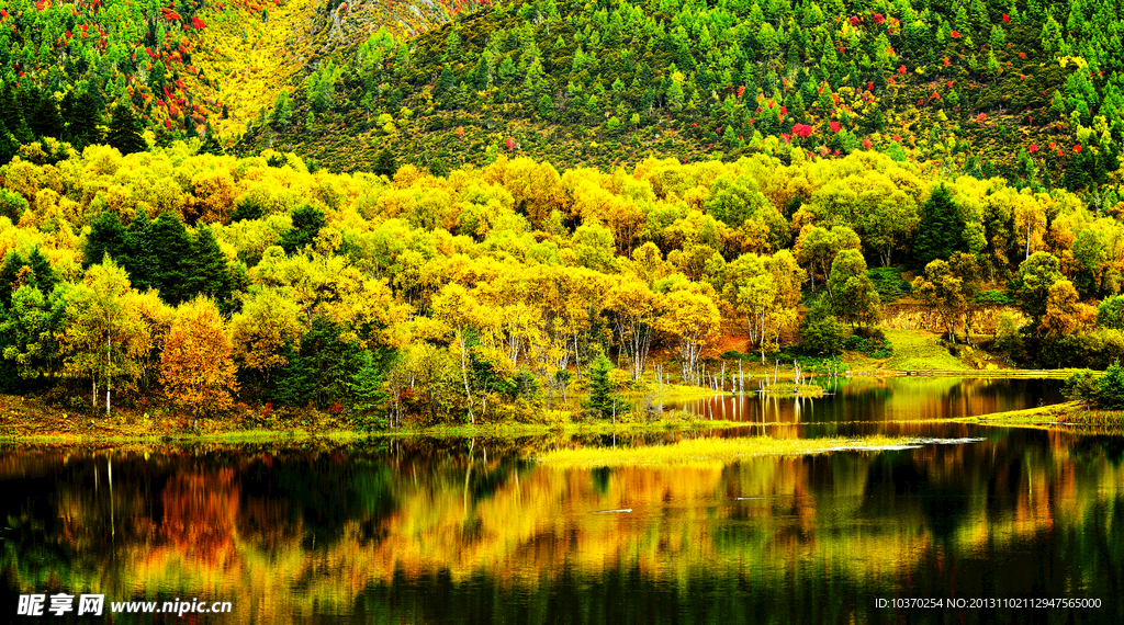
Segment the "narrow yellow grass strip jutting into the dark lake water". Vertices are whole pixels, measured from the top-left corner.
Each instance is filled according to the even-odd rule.
[[[649,465],[692,465],[728,462],[756,456],[806,456],[833,451],[903,449],[917,439],[882,435],[860,439],[695,439],[667,445],[580,448],[550,451],[538,461],[561,468],[633,467]]]

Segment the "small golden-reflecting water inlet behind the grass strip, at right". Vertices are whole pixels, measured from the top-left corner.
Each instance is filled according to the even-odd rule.
[[[976,416],[1059,403],[1060,379],[951,377],[856,377],[817,382],[825,397],[794,397],[746,392],[682,402],[664,408],[688,410],[704,419],[758,423],[924,421]]]

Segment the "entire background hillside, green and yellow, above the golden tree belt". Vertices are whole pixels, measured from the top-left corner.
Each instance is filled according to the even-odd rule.
[[[210,132],[336,171],[384,148],[437,173],[500,151],[613,168],[877,149],[1111,208],[1118,8],[17,0],[0,15],[0,159],[37,137],[101,140],[125,102],[160,144]]]

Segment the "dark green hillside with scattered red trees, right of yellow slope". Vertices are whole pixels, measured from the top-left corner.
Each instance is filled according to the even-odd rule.
[[[327,82],[307,68],[294,113],[242,145],[336,169],[389,147],[438,173],[498,151],[611,168],[879,149],[1086,189],[1118,167],[1113,6],[504,2],[405,46],[377,34]]]

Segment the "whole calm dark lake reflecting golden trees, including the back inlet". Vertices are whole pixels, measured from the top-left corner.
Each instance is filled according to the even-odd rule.
[[[107,607],[232,601],[233,614],[21,622],[1124,622],[1124,439],[906,422],[900,414],[1003,410],[988,406],[1019,394],[1034,405],[1057,384],[900,382],[853,386],[850,399],[843,389],[799,423],[780,412],[765,429],[981,440],[595,470],[534,462],[571,444],[561,436],[9,445],[0,621],[17,619],[18,592],[62,590],[105,594]],[[840,399],[851,407],[827,407]],[[825,423],[832,411],[852,423]],[[602,512],[620,509],[631,512]],[[877,607],[1052,597],[1102,607]]]

